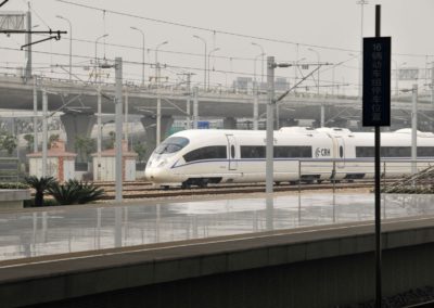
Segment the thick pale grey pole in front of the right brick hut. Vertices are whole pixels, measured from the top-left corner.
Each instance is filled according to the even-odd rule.
[[[116,98],[115,98],[115,123],[116,123],[116,201],[123,201],[123,61],[122,57],[115,59],[115,79],[116,79]]]

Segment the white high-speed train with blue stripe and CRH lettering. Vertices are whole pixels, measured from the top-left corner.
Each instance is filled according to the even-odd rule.
[[[374,133],[344,128],[284,127],[275,131],[273,180],[321,182],[374,176]],[[434,159],[434,133],[418,131],[418,158]],[[381,134],[382,171],[411,172],[411,129]],[[434,162],[434,161],[433,161]],[[266,131],[199,129],[179,131],[152,153],[145,177],[155,185],[205,187],[219,182],[263,182]]]

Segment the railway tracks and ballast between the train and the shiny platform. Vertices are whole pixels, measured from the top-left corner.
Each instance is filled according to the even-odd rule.
[[[390,183],[387,181],[386,183]],[[95,183],[105,191],[105,200],[115,197],[114,183]],[[322,182],[321,184],[280,184],[275,185],[275,192],[296,192],[306,190],[332,190],[334,189],[357,189],[373,188],[372,180],[359,180],[354,182]],[[248,194],[265,192],[265,183],[254,184],[213,184],[207,188],[191,189],[156,189],[149,182],[126,182],[123,185],[124,198],[157,198],[157,197],[178,197],[193,195],[222,195],[222,194]]]

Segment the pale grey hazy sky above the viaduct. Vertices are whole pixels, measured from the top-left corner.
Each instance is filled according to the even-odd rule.
[[[192,73],[192,82],[202,87],[205,56],[209,57],[209,85],[225,89],[237,77],[260,80],[261,56],[275,56],[277,62],[309,64],[305,69],[279,68],[276,75],[290,84],[301,74],[307,75],[318,63],[320,91],[354,94],[359,84],[359,52],[361,42],[361,5],[357,0],[33,0],[29,1],[35,30],[67,30],[73,26],[73,63],[75,78],[89,79],[95,56],[95,39],[100,39],[97,56],[124,60],[124,79],[140,84],[142,74],[142,36],[144,34],[145,74],[148,82],[155,76],[155,48],[162,63],[162,76],[167,85],[184,80],[182,74]],[[433,0],[379,0],[363,5],[363,36],[374,36],[374,7],[382,5],[382,36],[392,37],[392,67],[417,67],[424,73],[434,61]],[[80,4],[80,5],[76,5]],[[91,7],[91,8],[85,8]],[[0,13],[26,11],[27,1],[10,0]],[[119,14],[120,13],[120,14]],[[68,34],[69,35],[69,34]],[[34,65],[38,74],[68,78],[68,35],[60,41],[42,42],[34,47]],[[193,36],[202,38],[197,39]],[[34,40],[43,37],[34,37]],[[255,44],[252,44],[255,42]],[[24,66],[20,47],[24,36],[0,36],[0,72],[15,72]],[[256,59],[256,61],[255,61]],[[255,69],[256,64],[256,69]],[[166,66],[165,66],[166,65]],[[55,66],[63,66],[64,69]],[[113,77],[106,72],[107,79]],[[420,89],[427,90],[426,79],[420,75]],[[207,77],[207,76],[206,76]],[[317,76],[315,76],[317,77]],[[265,79],[265,78],[264,78]],[[401,81],[400,81],[401,82]],[[407,87],[403,81],[400,87]],[[316,80],[308,78],[301,86],[314,91]]]

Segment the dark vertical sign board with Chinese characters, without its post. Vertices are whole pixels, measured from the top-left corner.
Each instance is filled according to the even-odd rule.
[[[391,37],[363,38],[363,126],[391,126]]]

